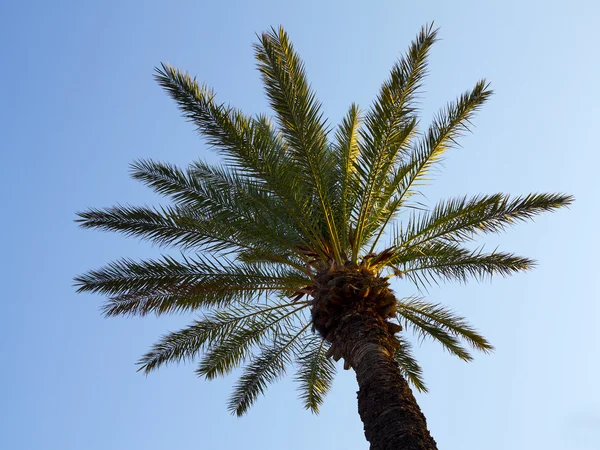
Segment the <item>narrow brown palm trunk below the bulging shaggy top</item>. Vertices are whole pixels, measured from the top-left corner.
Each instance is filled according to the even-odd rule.
[[[349,311],[335,343],[356,372],[358,412],[371,450],[437,450],[408,383],[394,360],[385,320],[370,311]]]

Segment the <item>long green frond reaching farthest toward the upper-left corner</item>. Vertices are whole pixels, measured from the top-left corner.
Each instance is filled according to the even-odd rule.
[[[215,103],[215,94],[195,79],[167,65],[157,69],[156,79],[178,103],[185,117],[193,121],[209,144],[226,162],[280,199],[287,214],[302,230],[302,237],[325,256],[323,238],[313,220],[312,193],[290,161],[288,148],[265,117],[245,116],[232,107]]]

